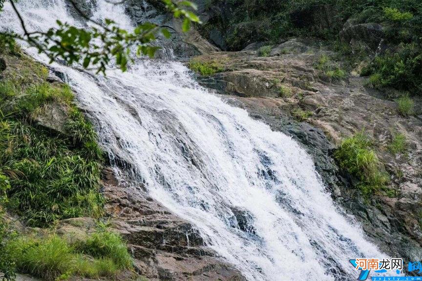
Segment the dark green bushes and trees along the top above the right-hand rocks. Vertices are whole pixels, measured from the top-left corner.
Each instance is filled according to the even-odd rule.
[[[346,60],[356,56],[371,60],[362,74],[371,76],[374,87],[392,86],[411,95],[422,92],[421,1],[212,0],[208,6],[209,11],[218,11],[214,6],[223,11],[210,12],[211,19],[200,29],[207,37],[215,37],[219,30],[223,48],[240,50],[253,42],[278,44],[289,37],[314,37],[341,51],[349,57]],[[374,24],[379,24],[380,30]],[[350,32],[373,31],[367,35],[370,40],[382,34],[375,58],[368,53],[368,46],[349,45],[341,33],[350,26],[356,27]],[[369,46],[372,49],[378,47],[374,42]],[[335,79],[343,77],[338,70],[330,71]]]

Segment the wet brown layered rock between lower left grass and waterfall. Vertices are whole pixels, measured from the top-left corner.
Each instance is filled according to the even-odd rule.
[[[188,221],[148,197],[142,185],[119,184],[110,168],[104,170],[103,179],[111,227],[127,240],[142,276],[150,281],[245,280],[204,246]]]

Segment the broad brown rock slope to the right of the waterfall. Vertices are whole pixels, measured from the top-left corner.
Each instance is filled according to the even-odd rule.
[[[226,95],[231,104],[248,110],[251,117],[302,143],[333,199],[360,221],[381,250],[405,260],[421,260],[422,119],[402,118],[396,102],[366,86],[366,78],[325,79],[315,68],[324,54],[331,53],[297,40],[275,46],[265,58],[250,49],[215,53],[212,60],[220,61],[224,72],[198,80]],[[395,95],[394,91],[389,94]],[[415,104],[421,110],[420,98],[415,98]],[[297,109],[312,116],[297,121]],[[334,149],[343,138],[361,130],[373,139],[391,176],[388,188],[396,196],[380,191],[365,200],[353,185],[355,179],[336,166]],[[402,155],[388,151],[397,133],[406,137],[408,149]]]

